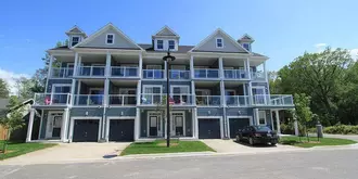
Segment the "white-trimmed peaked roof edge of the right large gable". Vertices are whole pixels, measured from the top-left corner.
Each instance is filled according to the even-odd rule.
[[[199,48],[201,48],[203,44],[205,44],[210,39],[213,39],[214,37],[216,37],[218,34],[221,34],[221,36],[223,36],[227,39],[229,39],[230,42],[233,46],[235,46],[239,51],[241,51],[243,53],[251,53],[245,48],[243,48],[240,43],[238,43],[238,41],[234,40],[231,36],[229,36],[227,33],[225,33],[221,28],[217,28],[213,34],[210,34],[209,36],[207,36],[204,40],[202,40],[199,44],[196,44],[192,50],[190,50],[190,52],[195,52],[195,51],[199,52],[200,51]]]

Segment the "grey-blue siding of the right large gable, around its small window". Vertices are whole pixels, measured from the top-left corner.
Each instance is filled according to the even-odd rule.
[[[216,48],[216,38],[222,38],[223,48]],[[238,48],[229,38],[218,33],[216,36],[212,37],[204,44],[202,44],[195,51],[208,51],[208,52],[245,52],[243,48]]]

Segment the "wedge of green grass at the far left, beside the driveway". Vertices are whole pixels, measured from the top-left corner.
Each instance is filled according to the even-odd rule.
[[[8,143],[8,152],[5,154],[0,153],[0,161],[10,157],[15,157],[34,151],[42,150],[56,145],[55,143],[24,143],[10,141]],[[0,148],[3,148],[3,141],[0,141]]]

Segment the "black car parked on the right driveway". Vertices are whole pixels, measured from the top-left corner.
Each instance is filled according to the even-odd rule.
[[[255,143],[276,145],[279,137],[276,131],[267,126],[247,126],[238,131],[236,141],[247,141],[251,145]]]

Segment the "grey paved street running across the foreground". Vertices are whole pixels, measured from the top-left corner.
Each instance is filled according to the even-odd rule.
[[[358,176],[357,164],[357,149],[307,150],[250,155],[116,159],[85,164],[0,166],[0,178],[356,179]]]

